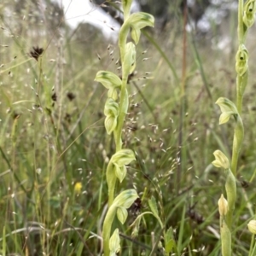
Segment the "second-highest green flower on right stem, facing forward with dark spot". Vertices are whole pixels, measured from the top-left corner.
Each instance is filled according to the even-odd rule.
[[[239,45],[236,53],[236,73],[242,76],[248,69],[248,51],[244,44]]]

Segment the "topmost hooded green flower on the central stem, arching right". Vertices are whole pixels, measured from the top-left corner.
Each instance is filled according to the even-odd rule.
[[[137,44],[141,36],[141,29],[145,26],[154,26],[154,16],[139,12],[132,14],[126,22],[131,26],[131,38]]]

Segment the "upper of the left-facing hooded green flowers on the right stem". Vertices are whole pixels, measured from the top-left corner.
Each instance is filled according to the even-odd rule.
[[[222,112],[218,120],[219,125],[227,123],[230,120],[230,116],[234,116],[235,118],[237,117],[238,111],[236,105],[229,99],[220,97],[216,104],[218,104]]]

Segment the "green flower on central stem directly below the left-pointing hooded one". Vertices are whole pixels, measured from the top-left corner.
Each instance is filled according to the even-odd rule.
[[[119,116],[119,104],[117,102],[114,102],[112,98],[108,98],[105,104],[104,114],[106,115],[106,131],[108,134],[111,134],[117,126],[117,119]]]

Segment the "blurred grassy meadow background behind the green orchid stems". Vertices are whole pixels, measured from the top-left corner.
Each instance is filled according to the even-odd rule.
[[[117,3],[94,4],[121,24]],[[129,83],[124,148],[137,161],[118,190],[135,187],[142,202],[122,227],[119,255],[151,255],[161,241],[153,217],[133,240],[128,230],[152,195],[166,229],[173,229],[177,255],[220,255],[224,174],[211,162],[216,149],[231,154],[233,126],[218,125],[214,102],[236,98],[237,3],[138,4],[156,26],[143,33]],[[101,255],[105,169],[114,148],[103,127],[106,90],[94,79],[102,69],[120,75],[117,43],[87,23],[71,29],[50,1],[3,0],[0,19],[1,254]],[[233,255],[247,255],[247,219],[255,212],[255,26],[249,33]],[[152,255],[164,254],[158,248]]]

